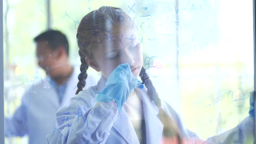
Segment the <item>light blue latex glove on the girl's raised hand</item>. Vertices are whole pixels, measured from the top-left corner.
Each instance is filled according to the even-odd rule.
[[[121,64],[109,75],[105,88],[96,94],[94,103],[115,100],[120,113],[124,102],[136,87],[143,88],[144,85],[133,76],[128,63]]]

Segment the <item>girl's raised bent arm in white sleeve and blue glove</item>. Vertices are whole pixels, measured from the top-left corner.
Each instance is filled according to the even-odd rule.
[[[71,98],[69,107],[56,114],[57,128],[47,135],[48,143],[105,143],[130,92],[141,82],[128,64],[119,65],[95,99],[89,89]]]

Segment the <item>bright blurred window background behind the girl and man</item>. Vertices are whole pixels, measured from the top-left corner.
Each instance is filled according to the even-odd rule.
[[[248,116],[254,90],[252,1],[3,0],[5,117],[45,78],[33,38],[48,28],[62,31],[70,63],[80,66],[77,27],[104,5],[122,8],[135,21],[150,79],[188,129],[207,139]],[[7,144],[27,141],[5,138]]]

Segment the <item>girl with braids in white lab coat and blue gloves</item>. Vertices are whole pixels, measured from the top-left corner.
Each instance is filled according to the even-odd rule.
[[[47,135],[48,143],[200,142],[172,107],[160,100],[142,66],[136,25],[122,9],[101,7],[90,12],[81,20],[76,37],[81,60],[78,89],[69,107],[57,112],[59,127]],[[96,86],[82,90],[89,66],[102,76]],[[248,136],[247,131],[242,133]],[[226,136],[205,143],[230,142]]]

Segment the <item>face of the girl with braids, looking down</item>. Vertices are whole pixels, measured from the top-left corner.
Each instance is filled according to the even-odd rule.
[[[101,71],[106,79],[118,65],[128,63],[133,75],[138,78],[143,59],[137,32],[129,29],[124,33],[113,33],[112,36],[111,42],[110,39],[104,40],[101,47],[93,48],[93,59],[86,58],[86,62],[95,70]]]

